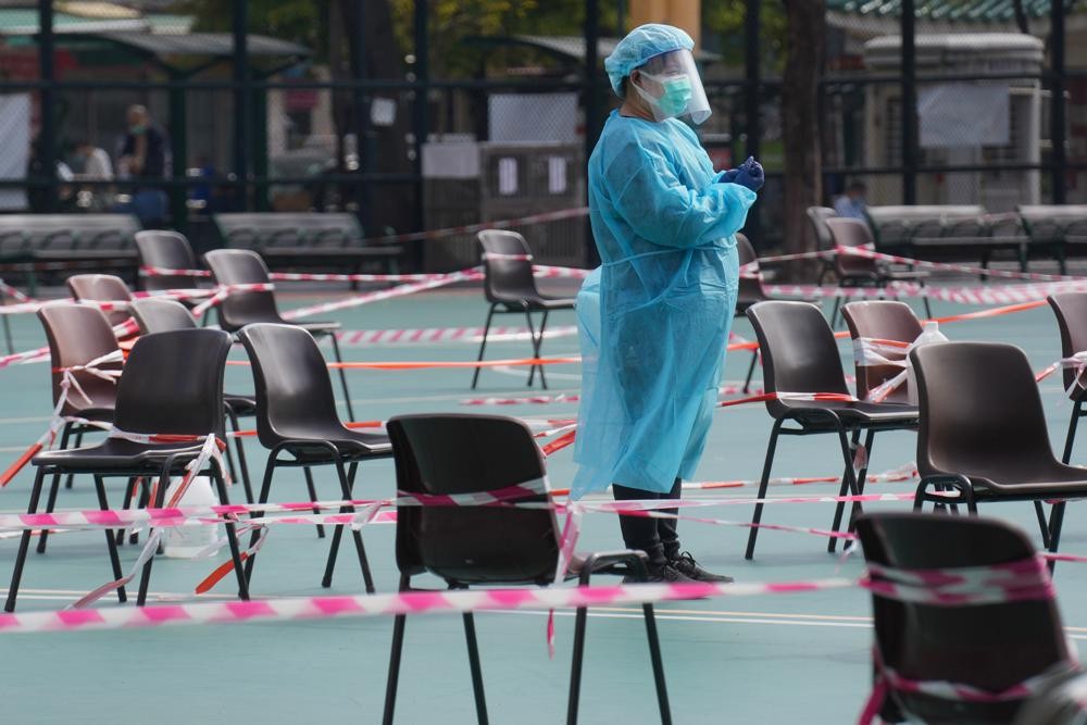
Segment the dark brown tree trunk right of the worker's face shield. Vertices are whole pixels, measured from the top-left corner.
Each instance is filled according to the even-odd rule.
[[[822,203],[823,162],[820,151],[820,87],[826,42],[826,0],[784,0],[788,21],[782,120],[785,142],[786,253],[815,250],[807,210]],[[805,268],[807,267],[807,268]],[[814,265],[789,267],[803,276]]]

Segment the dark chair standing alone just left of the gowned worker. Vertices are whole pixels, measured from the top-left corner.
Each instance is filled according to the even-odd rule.
[[[523,314],[528,324],[528,334],[533,340],[533,358],[540,357],[544,345],[544,333],[547,329],[548,315],[555,310],[573,310],[574,300],[554,298],[541,295],[536,289],[536,278],[533,276],[532,250],[528,242],[516,232],[488,229],[478,234],[479,243],[484,250],[484,293],[490,303],[487,311],[487,324],[483,329],[483,341],[479,343],[479,355],[476,362],[483,361],[487,350],[487,336],[490,334],[490,321],[496,314]],[[533,312],[542,312],[540,328],[537,334],[533,326]],[[472,389],[479,382],[479,370],[472,374]],[[528,372],[528,385],[536,379],[536,371],[540,373],[540,385],[547,389],[547,378],[542,365],[533,365]]]

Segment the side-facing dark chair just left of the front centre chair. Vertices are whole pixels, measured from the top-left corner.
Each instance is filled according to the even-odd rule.
[[[301,467],[310,500],[316,500],[310,468],[335,465],[340,493],[351,499],[359,463],[392,455],[392,446],[385,434],[352,430],[340,423],[336,398],[325,359],[313,337],[299,327],[258,323],[239,334],[253,366],[257,385],[257,435],[270,449],[264,480],[258,503],[268,500],[272,476],[277,467]],[[291,458],[279,459],[280,453]],[[353,509],[345,507],[341,513]],[[260,513],[254,514],[257,516]],[[318,529],[322,532],[323,529]],[[330,587],[336,554],[343,527],[337,526],[328,550],[328,562],[321,586]],[[362,534],[351,532],[366,591],[374,591],[374,582],[366,561]],[[253,536],[255,543],[257,536]],[[246,562],[247,576],[252,573],[254,557]]]

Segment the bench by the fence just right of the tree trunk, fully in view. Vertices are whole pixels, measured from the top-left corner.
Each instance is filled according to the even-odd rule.
[[[1015,220],[992,223],[977,204],[870,207],[880,251],[933,261],[974,261],[988,267],[996,252],[1010,252],[1025,268],[1027,239]]]

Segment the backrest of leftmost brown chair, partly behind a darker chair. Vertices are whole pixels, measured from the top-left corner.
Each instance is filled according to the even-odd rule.
[[[118,351],[120,348],[113,328],[101,310],[72,302],[51,302],[38,310],[38,320],[41,321],[46,338],[49,340],[49,364],[54,371],[52,386],[55,405],[61,397],[61,380],[64,379],[61,368],[86,365],[92,360]],[[107,363],[98,367],[103,371],[116,371],[121,370],[122,363]],[[72,375],[90,398],[91,403],[78,392],[72,391],[61,411],[62,414],[75,415],[86,408],[113,408],[117,399],[115,383],[87,372],[76,371]]]

